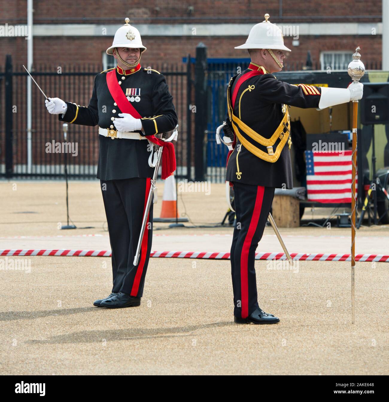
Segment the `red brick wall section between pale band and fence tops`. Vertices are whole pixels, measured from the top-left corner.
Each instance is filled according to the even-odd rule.
[[[4,68],[5,55],[11,54],[14,66],[27,62],[27,41],[24,38],[2,38],[0,51],[0,66]],[[147,51],[143,53],[141,64],[155,66],[156,64],[180,63],[188,53],[195,57],[196,46],[205,43],[208,57],[248,57],[244,49],[234,49],[246,41],[245,37],[147,37],[143,41]],[[362,60],[369,62],[381,61],[381,35],[354,36],[301,36],[300,45],[292,46],[292,39],[285,38],[285,45],[292,52],[287,62],[305,62],[307,51],[311,51],[313,63],[319,62],[321,51],[354,51],[356,46],[361,48]],[[112,38],[58,37],[34,39],[34,63],[55,66],[80,64],[101,64],[102,52],[112,44]],[[113,57],[113,56],[111,56]]]

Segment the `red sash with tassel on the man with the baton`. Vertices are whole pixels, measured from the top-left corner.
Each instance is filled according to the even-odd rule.
[[[106,80],[109,92],[115,100],[117,106],[122,113],[128,113],[135,119],[141,119],[142,116],[137,112],[135,107],[131,105],[129,100],[126,98],[119,82],[117,82],[116,70],[111,70],[106,74]],[[159,138],[154,137],[154,135],[147,135],[152,143],[159,146],[165,147],[164,152],[162,152],[162,180],[169,177],[174,170],[176,170],[176,154],[174,152],[174,145],[171,142],[164,142]]]

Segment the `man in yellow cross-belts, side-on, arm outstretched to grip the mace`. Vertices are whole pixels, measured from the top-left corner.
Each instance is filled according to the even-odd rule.
[[[236,323],[273,324],[279,319],[258,306],[255,251],[262,238],[276,188],[293,188],[290,118],[286,105],[318,110],[362,98],[362,84],[348,88],[290,85],[271,73],[283,68],[281,30],[267,21],[255,25],[244,45],[251,63],[231,78],[227,91],[225,134],[233,135],[226,180],[235,194],[236,226],[231,275]],[[228,132],[227,132],[228,131]],[[230,132],[231,131],[231,132]],[[232,138],[231,138],[232,139]]]

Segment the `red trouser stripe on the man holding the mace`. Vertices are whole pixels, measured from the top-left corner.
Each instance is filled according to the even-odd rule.
[[[261,214],[261,207],[263,201],[263,194],[265,188],[263,186],[257,187],[257,195],[255,199],[254,211],[251,217],[250,226],[244,238],[242,254],[240,256],[240,289],[242,297],[242,318],[248,316],[248,253],[252,238],[254,237],[256,228],[258,226],[259,217]]]

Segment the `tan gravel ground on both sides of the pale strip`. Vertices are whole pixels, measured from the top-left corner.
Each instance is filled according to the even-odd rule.
[[[70,183],[70,216],[94,229],[58,230],[66,219],[64,190],[60,182],[0,183],[0,237],[106,234],[96,181]],[[226,210],[223,185],[182,199],[195,224],[220,222]],[[350,229],[282,232],[341,236]],[[362,228],[358,236],[389,230]],[[388,263],[357,263],[351,324],[350,263],[300,261],[291,271],[256,261],[259,305],[280,318],[264,326],[233,323],[229,261],[151,259],[141,306],[117,310],[92,306],[111,291],[109,258],[37,256],[27,263],[30,273],[0,271],[2,374],[388,373]]]

